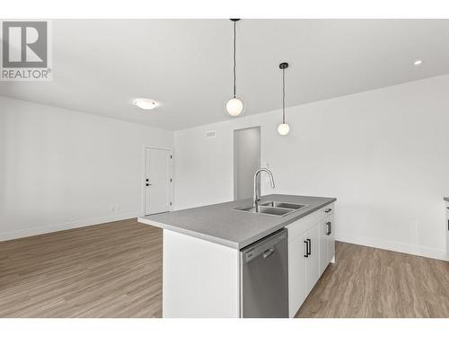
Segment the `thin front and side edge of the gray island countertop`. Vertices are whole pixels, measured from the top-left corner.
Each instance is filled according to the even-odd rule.
[[[202,240],[206,240],[208,242],[214,243],[214,244],[222,244],[225,245],[229,248],[233,248],[233,249],[242,249],[250,244],[255,243],[256,241],[260,240],[261,238],[270,235],[272,233],[275,233],[277,230],[299,220],[300,218],[303,217],[307,217],[308,215],[312,214],[313,212],[317,211],[320,208],[323,208],[327,205],[330,205],[331,203],[337,201],[337,198],[330,198],[330,200],[324,201],[320,204],[320,206],[316,206],[314,208],[311,209],[304,209],[304,212],[297,214],[295,217],[290,217],[288,219],[286,219],[286,221],[278,224],[277,226],[273,226],[271,228],[269,228],[269,230],[266,230],[264,232],[260,232],[260,234],[258,235],[254,235],[251,238],[243,241],[242,243],[238,243],[238,242],[233,242],[233,241],[229,241],[220,237],[216,237],[216,236],[212,236],[212,235],[206,235],[206,234],[202,234],[199,232],[195,232],[195,231],[191,231],[189,229],[185,229],[185,228],[180,228],[179,226],[172,226],[172,225],[168,225],[168,224],[163,224],[161,222],[157,222],[154,220],[149,220],[146,219],[145,217],[137,217],[137,221],[140,223],[143,223],[145,225],[150,225],[150,226],[156,226],[162,229],[167,229],[167,230],[171,230],[173,232],[178,232],[180,234],[183,235],[189,235],[192,237],[196,237],[198,239],[202,239]]]

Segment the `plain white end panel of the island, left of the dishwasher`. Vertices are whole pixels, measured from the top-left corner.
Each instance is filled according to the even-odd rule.
[[[163,230],[163,317],[240,317],[240,252]]]

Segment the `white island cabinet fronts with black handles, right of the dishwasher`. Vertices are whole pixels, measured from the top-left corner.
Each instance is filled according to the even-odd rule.
[[[334,204],[288,229],[288,314],[294,317],[330,262],[335,262]]]

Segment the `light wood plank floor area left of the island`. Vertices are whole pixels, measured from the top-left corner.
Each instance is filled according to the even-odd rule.
[[[129,219],[0,243],[0,317],[160,317],[162,237]]]

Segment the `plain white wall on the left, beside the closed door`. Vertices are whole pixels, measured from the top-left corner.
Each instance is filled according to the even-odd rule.
[[[0,97],[0,240],[142,211],[143,146],[173,132]]]

